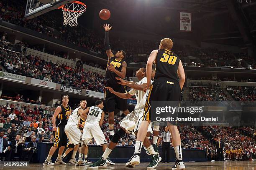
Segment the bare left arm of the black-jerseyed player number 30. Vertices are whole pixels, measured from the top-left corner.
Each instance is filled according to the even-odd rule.
[[[151,86],[151,74],[152,74],[152,67],[153,63],[156,60],[158,50],[153,50],[151,54],[148,56],[147,66],[146,66],[146,75],[147,75],[147,85],[144,88],[144,91],[150,88]]]

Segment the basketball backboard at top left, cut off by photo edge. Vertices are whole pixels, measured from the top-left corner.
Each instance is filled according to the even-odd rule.
[[[74,0],[27,0],[25,18],[32,19]]]

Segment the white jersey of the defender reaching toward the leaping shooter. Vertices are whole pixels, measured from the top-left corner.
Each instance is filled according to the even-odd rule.
[[[151,84],[152,84],[152,80],[151,80]],[[136,82],[136,85],[141,85],[143,83],[147,83],[147,77],[143,77],[143,79],[141,79],[141,81]],[[136,100],[137,100],[137,104],[134,108],[134,110],[141,110],[144,109],[145,107],[145,103],[146,103],[146,96],[148,94],[149,90],[147,90],[147,93],[144,92],[143,90],[135,90],[135,89],[131,89],[128,93],[130,95],[135,95]]]

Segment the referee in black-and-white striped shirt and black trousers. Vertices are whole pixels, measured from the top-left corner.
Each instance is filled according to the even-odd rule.
[[[166,155],[166,162],[169,163],[170,160],[170,145],[171,145],[171,138],[172,135],[168,130],[168,127],[165,127],[165,131],[161,133],[160,138],[157,142],[157,145],[159,145],[160,141],[162,140],[162,162],[164,163],[165,161],[165,155]]]

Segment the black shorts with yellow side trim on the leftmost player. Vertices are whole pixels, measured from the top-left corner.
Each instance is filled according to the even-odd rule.
[[[67,146],[67,135],[64,131],[65,125],[57,125],[54,133],[54,146]]]

